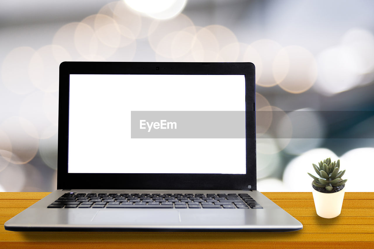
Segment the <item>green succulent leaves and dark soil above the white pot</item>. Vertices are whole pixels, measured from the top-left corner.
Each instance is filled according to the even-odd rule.
[[[346,170],[339,171],[340,160],[332,163],[331,159],[327,158],[318,164],[319,167],[313,163],[313,168],[319,177],[308,173],[314,179],[312,182],[313,185],[331,191],[333,187],[338,187],[346,183],[347,179],[341,179]]]

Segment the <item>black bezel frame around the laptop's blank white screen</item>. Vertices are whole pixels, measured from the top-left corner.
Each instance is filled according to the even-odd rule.
[[[248,190],[251,185],[256,190],[255,67],[251,62],[62,62],[59,70],[58,189]],[[246,174],[68,173],[70,74],[244,75]]]

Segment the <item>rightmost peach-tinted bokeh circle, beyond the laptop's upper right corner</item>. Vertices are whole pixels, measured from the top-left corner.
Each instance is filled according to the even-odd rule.
[[[315,83],[317,63],[313,54],[304,47],[283,47],[274,58],[273,76],[283,90],[302,93]]]

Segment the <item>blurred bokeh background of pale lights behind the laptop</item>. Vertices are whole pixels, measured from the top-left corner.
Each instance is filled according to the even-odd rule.
[[[260,191],[374,191],[374,1],[0,1],[0,191],[56,189],[62,61],[253,62]]]

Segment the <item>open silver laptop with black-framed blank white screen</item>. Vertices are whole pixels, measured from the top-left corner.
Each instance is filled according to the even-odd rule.
[[[295,231],[256,188],[252,63],[62,62],[57,190],[10,231]]]

